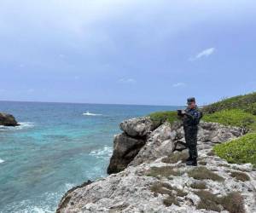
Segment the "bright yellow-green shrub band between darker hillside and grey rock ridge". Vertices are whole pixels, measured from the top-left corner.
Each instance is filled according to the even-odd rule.
[[[238,126],[246,130],[256,130],[256,116],[240,109],[222,110],[206,114],[203,118],[207,122]]]

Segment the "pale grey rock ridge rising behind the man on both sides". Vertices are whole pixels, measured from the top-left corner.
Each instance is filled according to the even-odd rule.
[[[229,141],[243,134],[239,127],[224,126],[217,123],[201,122],[198,128],[198,149],[212,147],[215,143]],[[181,123],[165,123],[160,125],[149,136],[145,146],[128,165],[138,165],[151,162],[156,158],[186,148]]]

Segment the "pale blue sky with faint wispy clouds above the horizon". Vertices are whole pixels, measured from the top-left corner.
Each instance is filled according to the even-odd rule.
[[[255,91],[256,2],[1,0],[0,100],[183,105]]]

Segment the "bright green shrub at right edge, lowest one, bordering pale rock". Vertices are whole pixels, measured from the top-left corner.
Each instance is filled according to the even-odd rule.
[[[236,140],[218,144],[213,150],[231,164],[251,163],[256,167],[256,133],[248,133]]]

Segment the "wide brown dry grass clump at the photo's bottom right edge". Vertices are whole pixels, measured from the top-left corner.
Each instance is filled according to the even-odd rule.
[[[241,194],[238,192],[228,193],[224,197],[217,197],[216,195],[201,190],[195,192],[201,199],[200,203],[197,205],[197,209],[215,210],[220,212],[219,205],[222,205],[225,210],[230,213],[244,213],[244,201]]]

